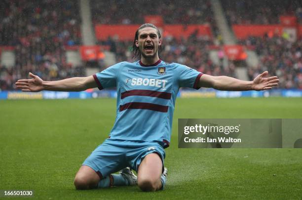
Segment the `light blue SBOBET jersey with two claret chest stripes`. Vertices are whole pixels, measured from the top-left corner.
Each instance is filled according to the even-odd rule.
[[[113,139],[157,142],[169,146],[175,100],[180,87],[198,89],[202,73],[178,63],[161,60],[117,63],[93,77],[99,89],[116,87]]]

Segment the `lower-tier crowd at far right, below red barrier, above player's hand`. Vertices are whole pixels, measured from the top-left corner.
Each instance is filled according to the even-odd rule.
[[[302,39],[291,42],[280,36],[265,35],[245,42],[255,45],[260,57],[259,66],[248,70],[250,79],[267,70],[271,75],[279,77],[279,88],[302,89]]]

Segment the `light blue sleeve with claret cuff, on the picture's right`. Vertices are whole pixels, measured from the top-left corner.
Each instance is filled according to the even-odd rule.
[[[201,72],[198,72],[192,68],[189,68],[185,65],[177,66],[179,71],[179,86],[180,87],[191,87],[194,89],[199,89],[198,81],[203,75]]]

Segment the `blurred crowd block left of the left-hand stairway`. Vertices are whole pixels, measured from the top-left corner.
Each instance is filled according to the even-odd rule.
[[[83,75],[66,64],[65,45],[80,43],[80,18],[73,0],[1,0],[0,46],[15,48],[15,66],[0,66],[2,90],[29,71],[46,80]]]

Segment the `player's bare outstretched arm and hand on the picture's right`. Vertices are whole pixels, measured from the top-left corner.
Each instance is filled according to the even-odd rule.
[[[267,71],[258,75],[252,81],[238,80],[231,77],[219,76],[214,77],[210,75],[202,75],[199,80],[199,87],[212,87],[218,90],[227,91],[245,91],[245,90],[265,90],[271,89],[273,86],[278,85],[278,77],[268,77]]]

